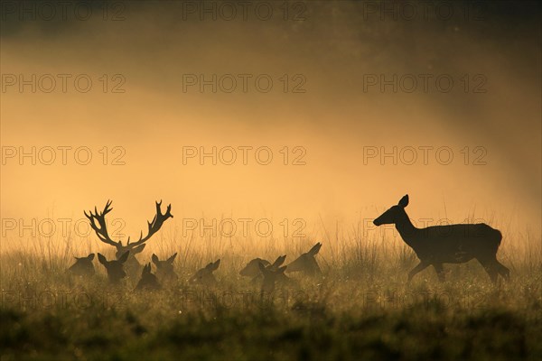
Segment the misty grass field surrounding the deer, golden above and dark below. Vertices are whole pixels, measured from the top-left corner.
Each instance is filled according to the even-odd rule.
[[[332,232],[333,233],[333,232]],[[406,284],[416,256],[386,234],[257,239],[176,234],[138,255],[150,262],[178,252],[179,280],[135,292],[137,280],[107,285],[104,267],[80,279],[73,255],[112,247],[89,239],[12,239],[1,255],[0,357],[11,359],[477,359],[542,357],[540,239],[506,230],[498,257],[511,281],[491,284],[480,264],[428,268]],[[250,259],[285,264],[316,242],[322,278],[261,297],[238,272]],[[188,282],[221,259],[218,285]]]

